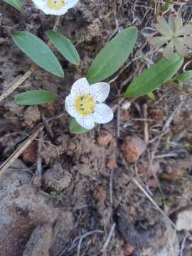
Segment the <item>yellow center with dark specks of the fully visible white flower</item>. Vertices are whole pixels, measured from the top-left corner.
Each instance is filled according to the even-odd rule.
[[[80,95],[75,100],[75,108],[79,114],[91,114],[95,109],[95,100],[89,94]]]

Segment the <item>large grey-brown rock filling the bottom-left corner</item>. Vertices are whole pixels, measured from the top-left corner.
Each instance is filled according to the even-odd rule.
[[[12,169],[13,168],[13,169]],[[0,255],[23,255],[23,245],[38,225],[57,219],[57,211],[47,198],[31,186],[31,174],[16,159],[0,177]]]

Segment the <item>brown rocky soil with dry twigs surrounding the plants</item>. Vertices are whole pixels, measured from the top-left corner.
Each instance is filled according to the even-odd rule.
[[[26,17],[0,0],[1,94],[31,66],[11,35],[24,30],[47,41],[44,31],[55,23],[31,1],[23,3]],[[39,124],[45,127],[0,173],[0,255],[192,255],[191,98],[171,85],[156,91],[155,100],[142,97],[130,105],[120,96],[161,56],[147,43],[157,7],[158,1],[80,0],[58,26],[75,42],[80,65],[58,55],[64,80],[38,68],[0,102],[1,164]],[[177,8],[191,21],[190,4]],[[129,26],[139,29],[137,45],[126,68],[108,80],[113,121],[71,135],[63,110],[71,85],[85,76],[102,46]],[[57,100],[38,107],[14,102],[18,92],[40,88]]]

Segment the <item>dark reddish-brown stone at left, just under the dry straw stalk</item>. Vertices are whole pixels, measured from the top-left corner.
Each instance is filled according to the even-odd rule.
[[[26,164],[35,164],[38,157],[38,146],[36,142],[32,142],[26,150],[23,151],[22,159]]]

